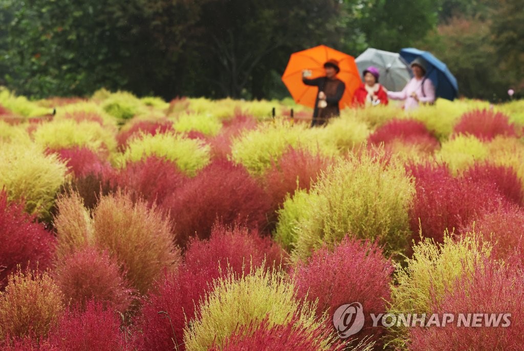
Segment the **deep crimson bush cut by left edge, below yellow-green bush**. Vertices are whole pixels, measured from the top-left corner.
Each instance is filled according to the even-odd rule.
[[[45,270],[50,266],[56,240],[42,224],[24,211],[24,205],[8,203],[0,190],[0,290],[7,276],[22,270]]]

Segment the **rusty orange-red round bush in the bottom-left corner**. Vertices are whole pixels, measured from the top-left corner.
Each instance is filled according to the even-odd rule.
[[[18,272],[0,292],[0,341],[24,336],[45,337],[64,305],[60,289],[47,273]]]

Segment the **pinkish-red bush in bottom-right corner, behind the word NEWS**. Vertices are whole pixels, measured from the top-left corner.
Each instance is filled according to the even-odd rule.
[[[445,327],[418,327],[409,329],[410,350],[522,349],[524,345],[524,273],[515,259],[500,264],[485,258],[476,263],[474,272],[464,267],[464,274],[444,295],[441,303],[433,302],[432,311],[455,313],[455,322]],[[510,313],[507,327],[458,327],[457,313]],[[472,318],[473,319],[473,318]]]

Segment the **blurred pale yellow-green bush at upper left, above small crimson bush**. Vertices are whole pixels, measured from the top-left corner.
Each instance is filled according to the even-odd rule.
[[[52,150],[73,146],[85,146],[95,152],[116,150],[116,128],[92,121],[63,119],[45,122],[33,133],[33,138],[37,144]]]

